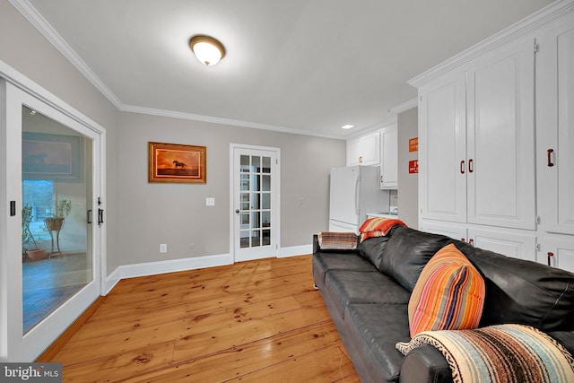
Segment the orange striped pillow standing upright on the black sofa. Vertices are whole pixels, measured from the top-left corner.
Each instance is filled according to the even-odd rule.
[[[424,266],[409,300],[411,337],[422,331],[476,328],[483,315],[481,274],[449,244]]]

